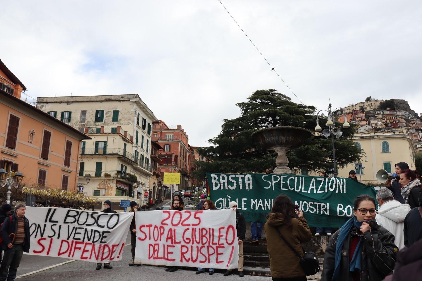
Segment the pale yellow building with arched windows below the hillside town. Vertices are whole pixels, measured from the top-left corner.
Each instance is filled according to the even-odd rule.
[[[339,168],[339,177],[347,177],[350,170],[355,170],[358,180],[362,176],[362,183],[379,184],[376,173],[380,169],[394,173],[394,165],[398,162],[406,162],[410,169],[415,169],[414,156],[417,151],[412,137],[404,128],[397,129],[395,132],[377,132],[373,129],[369,132],[357,132],[353,141],[366,153],[368,162],[365,162],[365,156],[363,156],[361,163],[364,168],[361,174],[359,163],[350,164],[343,169]]]

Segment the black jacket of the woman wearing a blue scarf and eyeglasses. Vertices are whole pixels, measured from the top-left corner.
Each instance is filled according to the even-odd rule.
[[[331,281],[335,267],[335,245],[337,242],[337,230],[330,239],[324,256],[324,268],[322,270],[321,281]],[[359,234],[358,234],[359,233]],[[352,281],[349,272],[350,265],[350,242],[352,235],[362,236],[362,257],[360,281],[381,281],[389,275],[395,265],[398,247],[394,244],[394,235],[384,227],[373,225],[370,231],[361,234],[355,227],[350,230],[350,235],[346,238],[341,249],[340,278],[341,281]]]

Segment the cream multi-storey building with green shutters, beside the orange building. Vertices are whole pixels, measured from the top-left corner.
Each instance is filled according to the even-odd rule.
[[[39,97],[38,108],[89,135],[81,144],[79,183],[90,196],[141,199],[150,190],[151,128],[157,120],[138,95]]]

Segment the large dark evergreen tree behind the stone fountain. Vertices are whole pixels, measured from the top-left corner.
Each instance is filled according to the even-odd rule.
[[[224,119],[222,130],[215,138],[208,139],[209,147],[198,148],[201,156],[211,162],[195,161],[193,175],[204,178],[205,173],[271,173],[277,154],[268,151],[252,138],[252,133],[265,127],[293,126],[314,131],[316,108],[292,102],[275,89],[258,90],[246,102],[238,103],[241,116]],[[342,130],[343,136],[335,139],[335,158],[338,167],[344,167],[360,158],[361,150],[351,139],[354,124]],[[341,126],[340,123],[337,127]],[[298,149],[287,154],[290,168],[308,171],[333,168],[332,140],[312,136]]]

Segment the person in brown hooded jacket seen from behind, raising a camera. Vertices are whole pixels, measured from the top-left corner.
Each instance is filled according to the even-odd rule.
[[[312,233],[303,213],[299,210],[296,212],[296,206],[287,195],[279,195],[274,200],[265,223],[265,232],[273,281],[306,281],[299,257],[280,235],[303,256],[301,243],[311,240]]]

